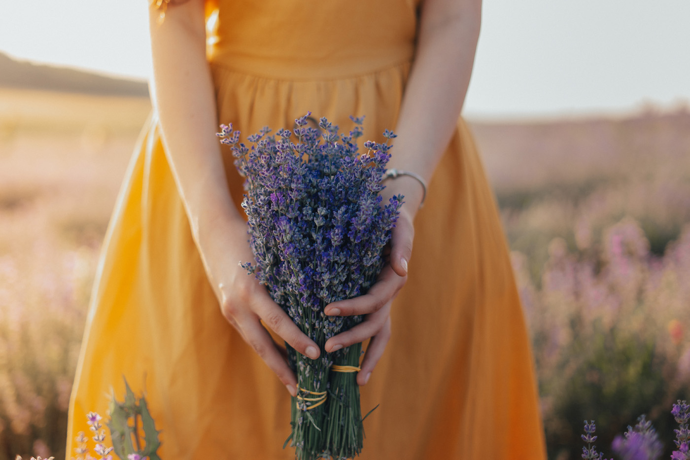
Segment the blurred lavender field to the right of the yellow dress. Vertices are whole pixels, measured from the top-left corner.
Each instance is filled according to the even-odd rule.
[[[690,396],[690,113],[475,124],[531,330],[551,459]],[[663,457],[662,457],[663,458]]]

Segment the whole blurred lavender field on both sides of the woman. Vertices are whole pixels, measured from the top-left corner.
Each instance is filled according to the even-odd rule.
[[[0,460],[61,459],[99,247],[148,101],[0,89]],[[470,120],[529,322],[551,459],[690,383],[690,113]],[[667,456],[668,458],[668,456]]]

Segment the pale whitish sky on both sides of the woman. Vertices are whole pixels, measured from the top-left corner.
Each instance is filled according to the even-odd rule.
[[[147,0],[0,0],[0,51],[148,78]],[[464,113],[551,117],[690,104],[689,0],[484,0]]]

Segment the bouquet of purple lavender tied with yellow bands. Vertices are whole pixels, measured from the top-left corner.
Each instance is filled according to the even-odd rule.
[[[316,360],[287,345],[297,375],[286,444],[299,460],[347,459],[362,450],[364,430],[359,405],[362,344],[326,353],[324,344],[357,325],[358,316],[334,317],[324,307],[364,294],[380,273],[382,251],[391,238],[402,196],[382,207],[380,184],[390,158],[388,142],[365,142],[359,155],[362,118],[353,118],[349,135],[322,118],[308,127],[307,113],[293,131],[277,137],[262,129],[239,142],[239,132],[221,125],[221,142],[235,155],[246,177],[242,207],[248,215],[250,246],[256,262],[247,263],[268,287],[273,300],[322,350]],[[297,142],[291,142],[293,134]],[[294,139],[294,137],[293,137]],[[322,142],[323,141],[323,142]]]

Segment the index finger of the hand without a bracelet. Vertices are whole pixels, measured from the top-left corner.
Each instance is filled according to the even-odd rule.
[[[277,303],[273,302],[268,294],[257,296],[253,307],[259,318],[262,318],[273,332],[290,344],[290,347],[309,358],[316,359],[319,357],[321,354],[319,346],[299,330],[292,318]]]

